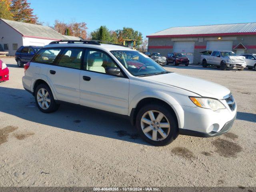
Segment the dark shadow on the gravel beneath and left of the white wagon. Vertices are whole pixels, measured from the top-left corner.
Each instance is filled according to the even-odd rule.
[[[34,97],[26,90],[0,87],[0,111],[56,128],[98,135],[143,145],[136,128],[125,116],[83,106],[61,104],[58,111],[40,112]]]

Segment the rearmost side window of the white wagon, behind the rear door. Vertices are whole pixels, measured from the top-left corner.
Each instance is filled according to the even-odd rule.
[[[32,62],[35,63],[44,63],[44,64],[52,64],[55,60],[55,58],[60,53],[61,49],[40,49],[38,51],[38,54],[34,56],[32,59]]]

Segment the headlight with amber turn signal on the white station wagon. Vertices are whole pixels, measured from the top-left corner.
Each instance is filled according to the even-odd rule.
[[[218,109],[225,109],[226,107],[216,99],[203,98],[203,97],[189,97],[190,100],[198,107],[211,109],[216,111]]]

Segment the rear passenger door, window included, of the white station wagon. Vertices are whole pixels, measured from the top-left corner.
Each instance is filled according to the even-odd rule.
[[[60,52],[50,65],[47,76],[50,79],[58,100],[79,104],[80,72],[84,48],[62,48],[50,50]]]

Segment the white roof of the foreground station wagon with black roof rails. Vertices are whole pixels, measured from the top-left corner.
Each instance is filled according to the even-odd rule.
[[[58,47],[81,47],[81,48],[95,48],[100,49],[104,51],[112,51],[112,50],[128,50],[128,51],[134,51],[131,48],[124,47],[121,45],[114,45],[114,44],[83,44],[83,43],[57,43],[57,44],[48,44],[44,46],[44,48],[58,48]]]

